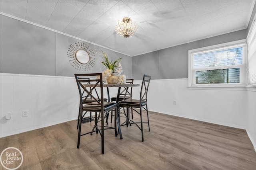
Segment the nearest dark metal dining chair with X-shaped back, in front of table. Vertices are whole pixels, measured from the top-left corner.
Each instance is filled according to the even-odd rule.
[[[90,76],[99,76],[100,79],[85,79],[85,77],[90,77]],[[104,126],[104,118],[106,118],[106,114],[109,113],[111,110],[117,111],[117,103],[115,102],[104,102],[103,98],[103,83],[102,83],[102,73],[93,73],[93,74],[75,74],[76,82],[78,85],[78,90],[79,90],[79,95],[80,95],[80,117],[82,117],[82,113],[89,111],[89,112],[95,112],[95,117],[94,117],[94,127],[92,128],[91,131],[81,134],[81,129],[82,129],[82,119],[79,119],[79,127],[78,127],[78,141],[77,141],[77,148],[79,149],[80,147],[80,139],[81,136],[91,134],[93,132],[100,133],[101,136],[101,153],[104,154],[104,130],[105,129],[114,129],[115,130],[115,136],[117,137],[117,128],[116,128],[116,116],[115,116],[115,123],[114,127],[108,127]],[[90,85],[88,84],[90,82]],[[84,84],[87,84],[90,86],[90,88],[86,88]],[[100,84],[100,100],[97,99],[97,95],[93,94],[94,89],[96,86]],[[83,98],[83,92],[86,93],[84,95],[85,97]],[[83,100],[87,100],[88,98],[93,98],[95,101],[88,103],[88,104],[83,104]],[[97,113],[99,113],[97,115]],[[104,113],[105,116],[104,116]],[[101,118],[101,119],[100,119]],[[101,125],[99,126],[98,123],[101,121]]]

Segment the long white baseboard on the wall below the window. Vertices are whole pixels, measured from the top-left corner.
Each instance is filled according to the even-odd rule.
[[[154,111],[154,112],[157,112],[157,113],[163,113],[163,114],[166,114],[166,115],[178,116],[178,117],[183,117],[183,118],[187,118],[187,119],[203,121],[203,122],[207,122],[207,123],[213,123],[213,124],[216,124],[216,125],[222,125],[222,126],[228,126],[228,127],[234,127],[234,128],[237,128],[237,129],[244,129],[244,130],[246,130],[245,126],[239,126],[239,125],[234,125],[234,124],[230,124],[230,123],[223,123],[223,122],[218,122],[218,121],[211,121],[211,120],[208,120],[208,119],[201,119],[201,118],[198,118],[198,117],[179,115],[179,114],[168,113],[168,112],[152,110],[152,109],[148,109],[148,110],[149,111]]]

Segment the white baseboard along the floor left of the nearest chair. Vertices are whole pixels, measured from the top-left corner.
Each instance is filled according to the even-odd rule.
[[[12,131],[10,133],[0,134],[0,138],[11,136],[11,135],[16,135],[16,134],[20,134],[20,133],[24,133],[24,132],[28,132],[28,131],[33,131],[33,130],[36,130],[36,129],[40,129],[40,128],[44,128],[44,127],[48,127],[48,126],[52,126],[52,125],[57,125],[57,124],[60,124],[60,123],[64,123],[64,122],[72,121],[72,120],[76,120],[76,119],[77,119],[77,117],[72,117],[72,118],[69,118],[69,119],[64,119],[64,120],[60,120],[60,121],[56,121],[56,122],[51,122],[51,123],[47,123],[47,124],[36,126],[36,127],[30,127],[30,128],[27,128],[27,129],[20,129],[18,131]]]

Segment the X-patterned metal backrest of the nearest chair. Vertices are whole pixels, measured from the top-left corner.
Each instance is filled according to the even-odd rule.
[[[99,76],[100,79],[90,79],[90,76]],[[80,94],[80,107],[82,107],[82,101],[85,101],[88,98],[93,98],[95,100],[94,105],[101,105],[103,111],[103,84],[102,84],[102,73],[92,73],[92,74],[75,74],[76,83],[78,86]],[[90,84],[90,88],[84,87],[83,84]],[[100,97],[98,93],[93,94],[93,91],[96,90],[96,86],[100,85]],[[90,89],[90,90],[89,90]]]

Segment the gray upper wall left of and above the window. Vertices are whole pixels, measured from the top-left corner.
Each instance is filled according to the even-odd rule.
[[[188,50],[246,39],[247,29],[186,43],[132,57],[132,78],[142,80],[143,74],[152,79],[188,78]]]

